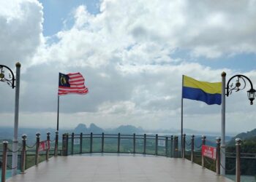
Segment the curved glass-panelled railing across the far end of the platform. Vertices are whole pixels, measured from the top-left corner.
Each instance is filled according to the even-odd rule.
[[[86,153],[151,154],[180,157],[178,136],[128,134],[75,134],[62,135],[64,156]]]

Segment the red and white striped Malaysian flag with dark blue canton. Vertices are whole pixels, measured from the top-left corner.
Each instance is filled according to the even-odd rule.
[[[61,74],[59,73],[59,92],[58,95],[69,93],[86,94],[88,88],[84,85],[83,76],[80,73]]]

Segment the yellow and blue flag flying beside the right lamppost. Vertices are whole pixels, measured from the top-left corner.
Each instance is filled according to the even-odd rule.
[[[200,100],[208,105],[222,103],[222,82],[200,82],[183,76],[182,98]]]

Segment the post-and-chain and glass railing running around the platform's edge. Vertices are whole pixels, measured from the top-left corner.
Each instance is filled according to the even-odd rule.
[[[12,151],[8,148],[8,142],[3,142],[3,152],[2,152],[2,161],[1,161],[1,181],[5,181],[5,174],[8,168],[7,165],[7,156],[8,152],[20,152],[20,172],[24,173],[28,168],[28,158],[30,161],[34,157],[34,165],[38,165],[39,157],[45,156],[45,160],[48,161],[49,156],[58,156],[58,155],[73,155],[73,154],[86,154],[86,153],[129,153],[129,154],[151,154],[159,155],[165,157],[181,157],[195,162],[195,160],[200,159],[200,164],[202,167],[210,165],[211,170],[215,170],[217,175],[220,172],[220,139],[216,140],[216,159],[209,159],[208,157],[201,154],[202,146],[206,145],[206,136],[202,136],[200,145],[195,143],[195,135],[191,136],[190,141],[186,141],[186,134],[183,135],[182,141],[178,142],[178,136],[159,136],[159,135],[117,135],[113,134],[83,134],[80,133],[75,135],[69,135],[65,133],[62,135],[62,149],[58,149],[59,142],[59,133],[56,132],[56,138],[50,140],[50,132],[47,133],[47,140],[40,141],[40,133],[36,134],[36,143],[29,146],[26,143],[26,135],[22,135],[22,145],[18,151]],[[199,138],[197,138],[199,139]],[[55,142],[54,149],[50,149],[50,143]],[[181,145],[180,145],[181,144]],[[181,146],[181,149],[178,148]],[[196,149],[196,150],[195,150]],[[45,151],[42,154],[42,151]],[[51,153],[50,153],[51,152]],[[255,159],[255,156],[252,157]],[[236,170],[236,182],[240,182],[241,178],[241,140],[236,139],[236,167],[232,170]],[[222,166],[223,167],[223,166]],[[225,168],[225,167],[224,167]],[[228,171],[225,168],[226,171]]]

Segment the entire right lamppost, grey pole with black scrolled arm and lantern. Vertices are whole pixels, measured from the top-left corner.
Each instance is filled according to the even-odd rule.
[[[256,96],[256,90],[253,88],[251,80],[242,74],[236,74],[235,76],[232,76],[228,81],[226,85],[226,73],[222,73],[222,143],[221,143],[221,169],[220,173],[221,175],[225,175],[225,96],[227,97],[232,94],[233,90],[238,92],[240,90],[244,90],[246,88],[246,81],[249,82],[249,85],[251,88],[247,91],[248,99],[250,100],[250,104],[253,104],[253,100],[255,100]]]

